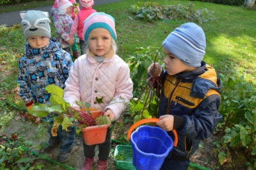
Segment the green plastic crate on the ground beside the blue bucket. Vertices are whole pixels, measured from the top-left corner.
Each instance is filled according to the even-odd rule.
[[[117,169],[136,169],[132,164],[132,146],[130,145],[117,145],[115,147],[114,160],[115,168]]]

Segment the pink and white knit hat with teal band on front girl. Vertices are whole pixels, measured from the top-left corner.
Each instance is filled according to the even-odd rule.
[[[117,33],[115,31],[115,19],[106,13],[92,13],[83,22],[83,39],[87,42],[89,34],[96,28],[104,28],[109,31],[114,40],[117,39]]]

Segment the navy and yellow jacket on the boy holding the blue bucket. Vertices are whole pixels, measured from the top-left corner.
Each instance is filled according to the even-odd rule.
[[[222,120],[218,113],[222,83],[216,71],[202,61],[201,67],[185,74],[167,75],[162,72],[162,93],[158,117],[174,115],[178,145],[171,159],[188,159],[199,147],[200,140],[213,134]],[[173,133],[167,132],[171,137]]]

